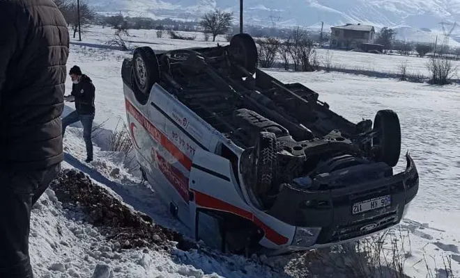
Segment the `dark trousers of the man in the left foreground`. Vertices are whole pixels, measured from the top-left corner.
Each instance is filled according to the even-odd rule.
[[[0,277],[32,278],[29,259],[31,208],[61,170],[0,169]]]

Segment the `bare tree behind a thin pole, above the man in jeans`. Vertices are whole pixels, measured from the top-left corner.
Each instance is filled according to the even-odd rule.
[[[66,17],[66,22],[69,26],[72,27],[73,30],[73,38],[77,35],[78,32],[78,9],[77,3],[73,3],[67,0],[59,0],[61,1],[61,7],[64,10],[64,17]],[[95,11],[88,6],[87,3],[84,1],[80,1],[80,25],[81,28],[86,28],[93,20],[95,19]]]

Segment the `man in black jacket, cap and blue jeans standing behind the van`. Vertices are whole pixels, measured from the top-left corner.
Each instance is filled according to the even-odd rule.
[[[72,79],[72,92],[70,96],[64,97],[67,101],[75,101],[75,111],[62,119],[62,135],[66,132],[66,127],[74,122],[82,122],[83,139],[86,144],[86,163],[93,161],[93,142],[91,140],[91,130],[95,115],[95,87],[93,81],[78,66],[70,69]]]

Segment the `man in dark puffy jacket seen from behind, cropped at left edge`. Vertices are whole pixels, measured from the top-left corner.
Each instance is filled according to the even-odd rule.
[[[68,49],[52,0],[0,1],[0,277],[33,277],[31,207],[63,161]]]

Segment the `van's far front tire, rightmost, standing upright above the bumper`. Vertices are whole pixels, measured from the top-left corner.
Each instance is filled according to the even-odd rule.
[[[372,145],[376,148],[376,160],[394,167],[401,154],[401,125],[399,117],[392,110],[378,111],[374,119],[374,129],[380,131]]]

